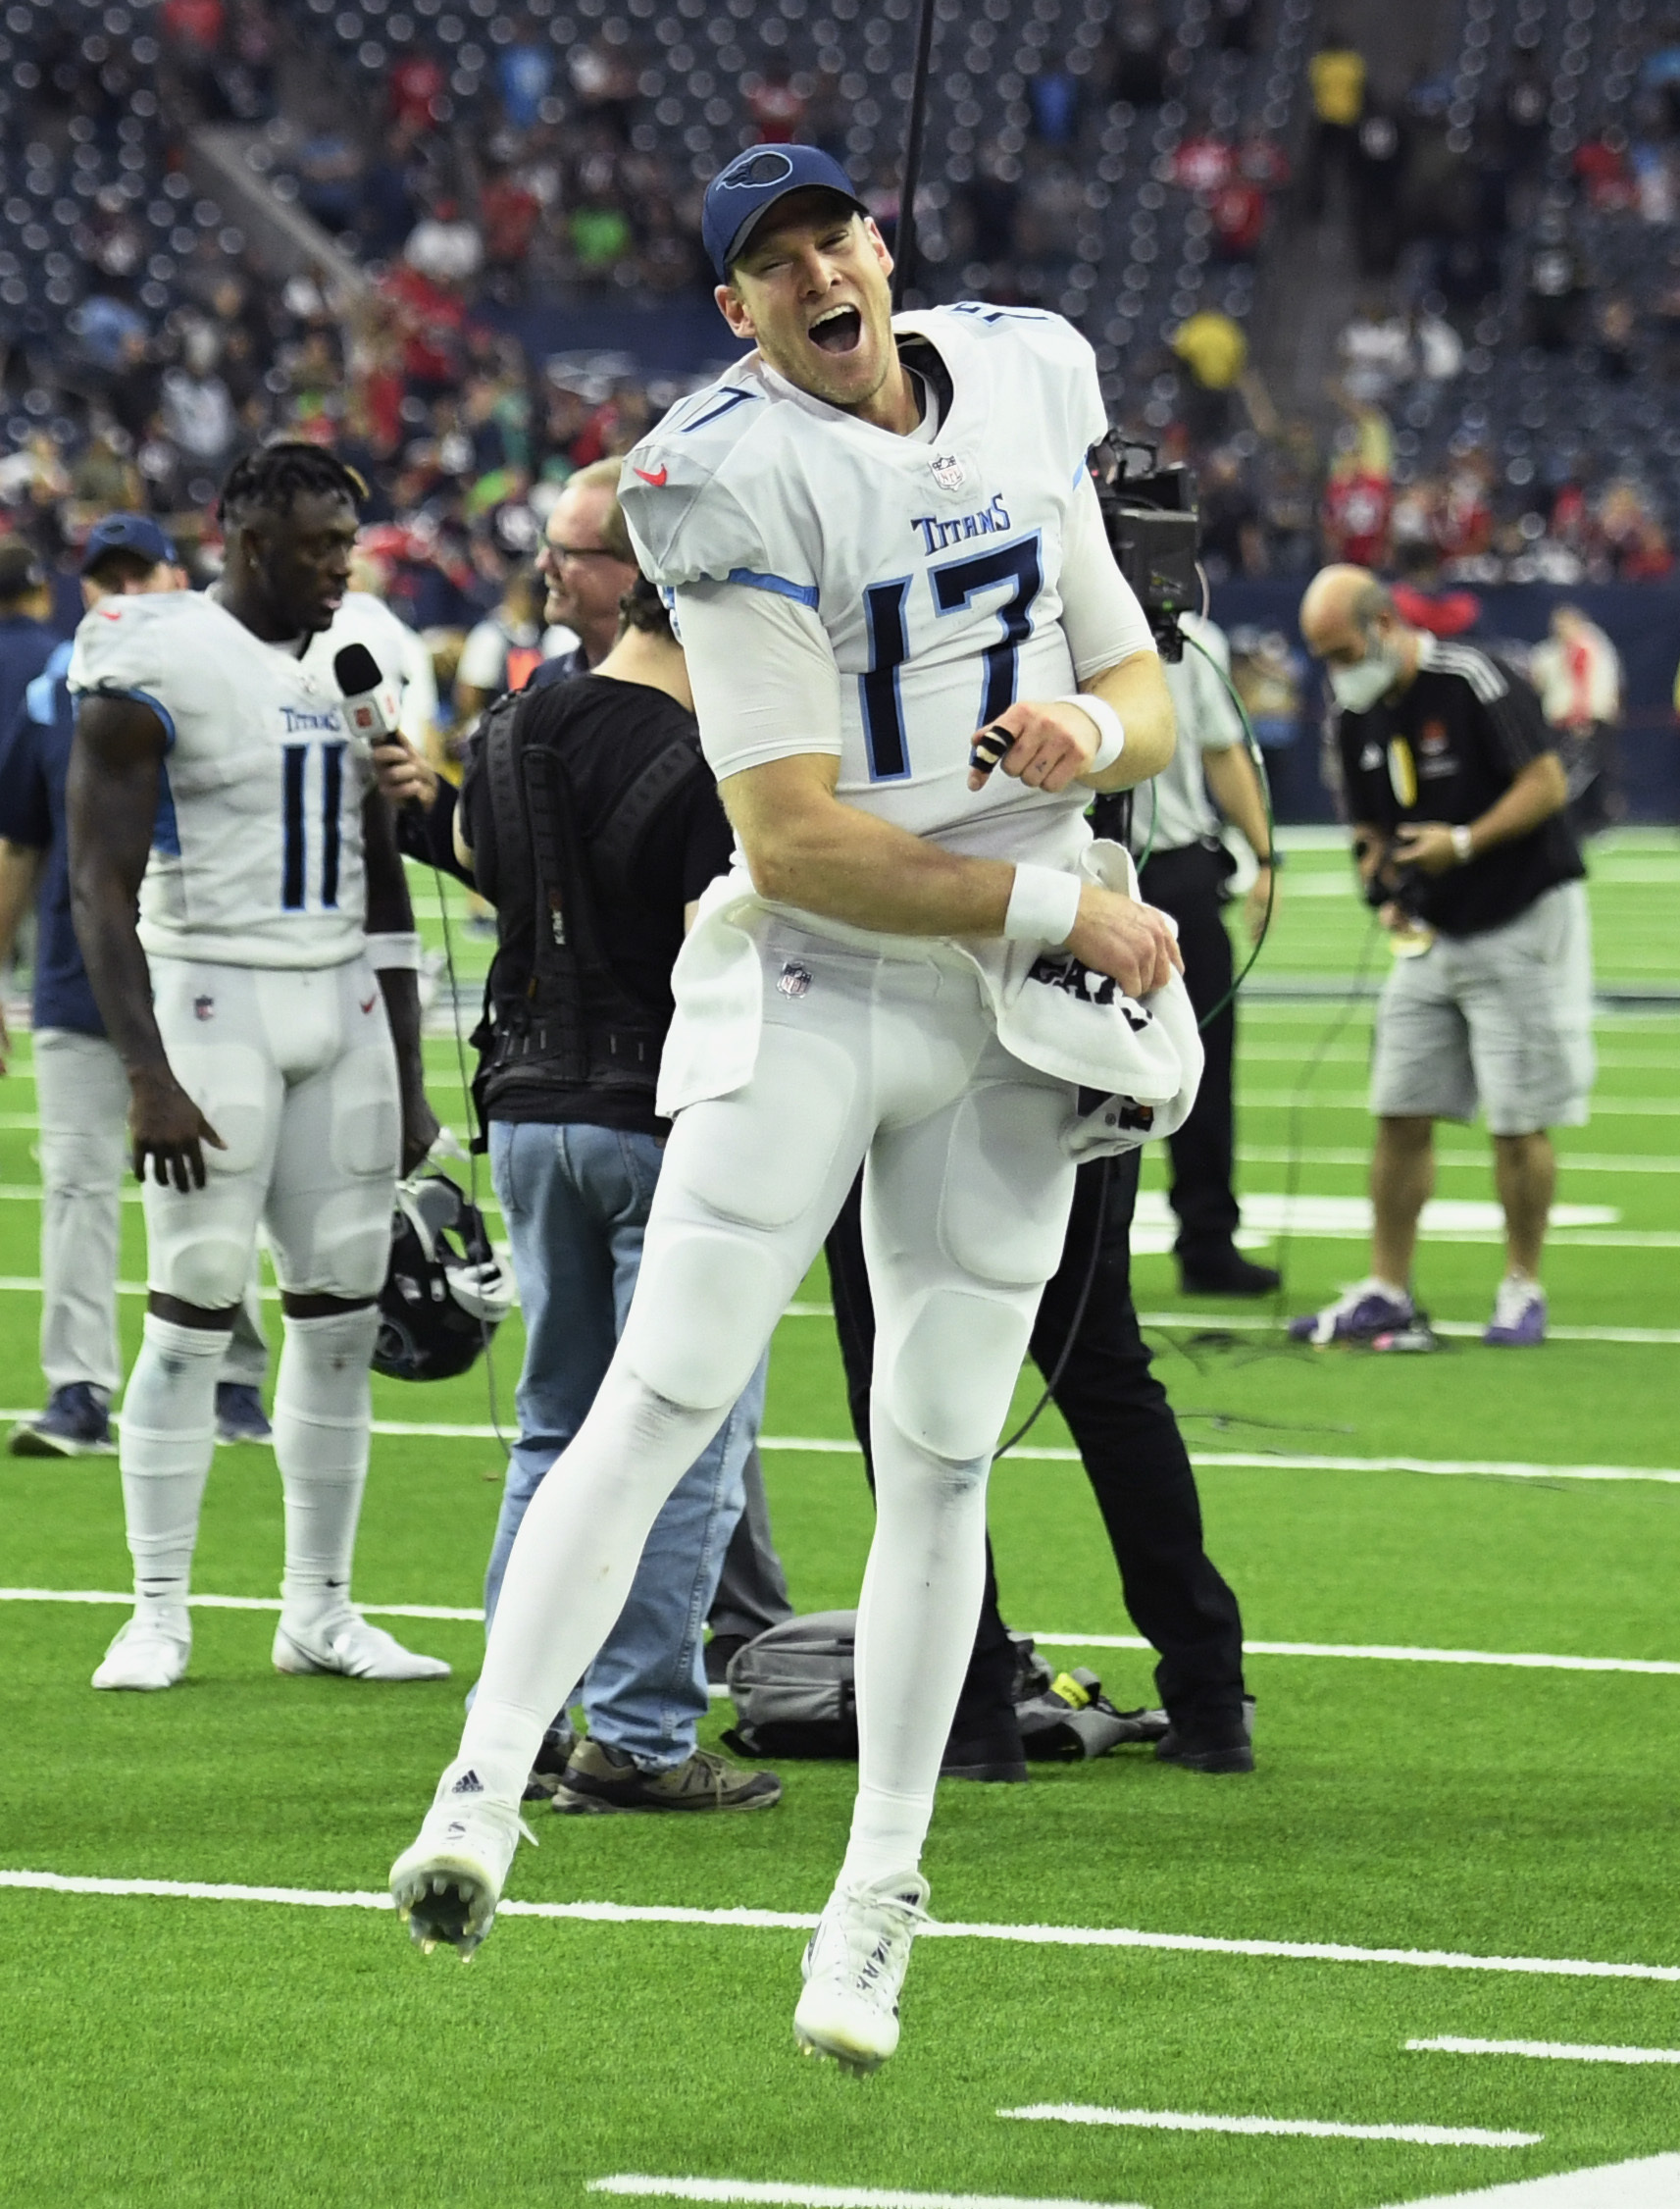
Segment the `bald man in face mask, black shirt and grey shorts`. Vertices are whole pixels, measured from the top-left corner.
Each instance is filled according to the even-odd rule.
[[[1530,685],[1503,660],[1400,619],[1364,568],[1325,568],[1300,634],[1336,698],[1360,881],[1395,956],[1378,1003],[1371,1272],[1296,1341],[1404,1332],[1435,1122],[1492,1135],[1506,1277],[1484,1343],[1545,1339],[1539,1268],[1556,1186],[1548,1129],[1592,1091],[1592,939],[1567,784]]]

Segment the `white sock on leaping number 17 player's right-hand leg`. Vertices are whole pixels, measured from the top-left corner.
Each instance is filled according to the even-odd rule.
[[[951,1465],[872,1420],[876,1522],[857,1608],[848,1886],[914,1871],[985,1593],[989,1458]]]

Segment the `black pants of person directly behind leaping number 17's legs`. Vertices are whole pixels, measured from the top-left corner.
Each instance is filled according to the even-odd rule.
[[[1181,1730],[1199,1732],[1241,1716],[1243,1619],[1236,1597],[1201,1546],[1197,1480],[1137,1328],[1130,1286],[1137,1169],[1137,1151],[1108,1166],[1080,1166],[1062,1264],[1038,1308],[1031,1354],[1049,1378],[1073,1328],[1102,1213],[1091,1299],[1055,1385],[1055,1403],[1084,1458],[1119,1566],[1126,1608],[1161,1652],[1155,1668],[1161,1703]],[[868,1467],[874,1306],[863,1270],[859,1197],[861,1184],[854,1184],[828,1237],[828,1279],[846,1363],[846,1396]],[[987,1593],[954,1736],[985,1730],[991,1712],[1011,1701],[1013,1672],[1016,1657],[998,1613],[998,1575],[987,1542]]]

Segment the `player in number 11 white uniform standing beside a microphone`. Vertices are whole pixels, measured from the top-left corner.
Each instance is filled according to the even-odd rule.
[[[137,1606],[95,1688],[185,1670],[216,1367],[258,1226],[285,1312],[274,1663],[448,1672],[349,1602],[397,1164],[437,1133],[391,813],[331,654],[309,649],[344,594],[358,490],[316,446],[247,455],[216,592],[106,601],[71,656],[71,895],[128,1071],[150,1288],[119,1445]]]

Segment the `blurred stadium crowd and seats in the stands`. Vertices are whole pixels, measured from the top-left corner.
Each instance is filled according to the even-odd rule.
[[[1461,0],[1411,86],[1311,0],[938,15],[921,294],[1075,316],[1121,420],[1199,466],[1216,581],[1669,574],[1669,0]],[[208,566],[234,451],[302,433],[373,486],[366,581],[470,627],[682,389],[541,356],[528,309],[704,311],[700,192],[755,137],[830,148],[890,228],[910,35],[912,0],[13,0],[0,526],[66,568],[146,506]],[[265,274],[205,130],[331,254]],[[1318,409],[1254,367],[1278,232],[1355,272]]]

